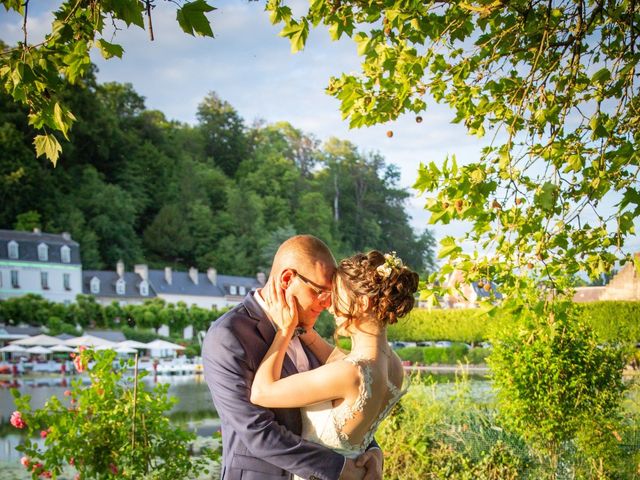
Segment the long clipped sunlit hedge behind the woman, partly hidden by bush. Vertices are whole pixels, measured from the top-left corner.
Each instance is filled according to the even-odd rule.
[[[593,302],[579,304],[584,319],[601,342],[640,342],[640,302]],[[389,340],[450,340],[478,343],[489,338],[504,316],[489,317],[479,309],[415,309],[389,327]]]

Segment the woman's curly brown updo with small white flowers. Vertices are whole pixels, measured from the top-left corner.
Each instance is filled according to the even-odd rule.
[[[369,298],[369,309],[382,325],[394,324],[411,311],[418,290],[418,274],[403,265],[395,252],[383,255],[377,250],[357,253],[338,264],[333,282],[333,308],[349,318],[358,312],[358,298]],[[338,296],[339,283],[349,299],[348,305]]]

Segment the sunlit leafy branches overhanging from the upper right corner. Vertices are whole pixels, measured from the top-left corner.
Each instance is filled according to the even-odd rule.
[[[293,51],[319,25],[357,44],[361,71],[327,88],[351,126],[406,113],[421,121],[430,97],[470,134],[491,135],[475,161],[420,168],[430,222],[471,223],[464,238],[442,240],[442,273],[455,266],[508,287],[535,268],[557,288],[566,274],[597,277],[632,259],[624,244],[640,213],[636,2],[319,0],[299,16],[291,3],[267,9]],[[464,253],[464,241],[488,253]]]

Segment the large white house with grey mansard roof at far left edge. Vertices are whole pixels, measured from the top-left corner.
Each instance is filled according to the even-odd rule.
[[[0,300],[28,293],[65,304],[82,293],[80,246],[71,235],[0,230]]]

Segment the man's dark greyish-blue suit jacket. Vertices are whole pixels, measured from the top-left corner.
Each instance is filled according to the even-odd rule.
[[[253,294],[214,322],[202,345],[204,376],[220,415],[223,480],[337,480],[344,457],[300,438],[297,408],[266,409],[250,401],[251,383],[275,329]],[[311,368],[318,359],[308,350]],[[297,373],[288,356],[282,376]]]

